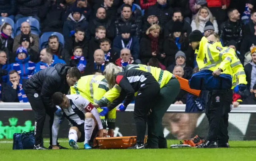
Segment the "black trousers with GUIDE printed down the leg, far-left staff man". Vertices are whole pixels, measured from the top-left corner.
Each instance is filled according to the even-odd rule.
[[[28,97],[28,101],[35,114],[35,145],[43,144],[42,132],[44,128],[44,121],[46,114],[50,116],[49,130],[50,130],[50,145],[52,145],[52,124],[54,120],[54,111],[49,107],[45,107],[40,96],[35,90],[26,90],[25,93]]]

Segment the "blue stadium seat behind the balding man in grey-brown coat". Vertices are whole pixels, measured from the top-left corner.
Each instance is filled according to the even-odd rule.
[[[36,20],[35,18],[32,17],[24,17],[24,18],[20,18],[17,20],[16,22],[16,35],[20,34],[20,27],[22,22],[28,22],[30,24],[31,27],[31,33],[34,33],[36,35],[40,35],[40,23],[38,20]]]

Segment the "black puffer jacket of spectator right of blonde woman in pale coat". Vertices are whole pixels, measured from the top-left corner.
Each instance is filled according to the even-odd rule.
[[[230,40],[235,40],[236,44],[239,44],[243,38],[243,28],[243,23],[240,20],[232,22],[228,19],[224,22],[220,27],[220,38],[222,38],[224,46],[226,46]],[[240,48],[240,46],[238,48]]]

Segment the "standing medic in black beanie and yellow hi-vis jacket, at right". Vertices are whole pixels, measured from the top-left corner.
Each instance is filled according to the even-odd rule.
[[[240,90],[246,88],[244,71],[233,49],[222,47],[220,43],[214,41],[208,41],[199,30],[190,33],[189,41],[190,46],[195,50],[196,62],[200,70],[211,70],[214,77],[218,77],[221,73],[230,76],[234,73],[240,77]],[[198,148],[229,147],[227,129],[228,112],[232,108],[232,94],[231,89],[209,91],[208,106],[205,110],[209,120],[209,132],[206,143],[200,144]]]

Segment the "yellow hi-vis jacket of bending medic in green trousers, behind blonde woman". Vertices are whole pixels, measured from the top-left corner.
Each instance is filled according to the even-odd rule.
[[[175,77],[169,71],[164,71],[157,67],[151,67],[151,66],[146,66],[142,64],[127,65],[126,67],[124,67],[123,71],[127,71],[129,69],[138,69],[138,70],[151,73],[153,77],[156,79],[156,81],[158,81],[160,88],[162,88],[165,84],[167,84],[172,77]],[[121,87],[116,84],[112,89],[106,92],[104,96],[96,103],[99,104],[100,106],[106,106],[107,104],[110,105],[111,102],[113,102],[116,98],[120,96],[120,92],[121,92]],[[113,107],[114,106],[109,106],[109,110],[111,110]]]

